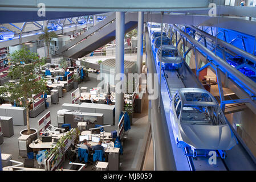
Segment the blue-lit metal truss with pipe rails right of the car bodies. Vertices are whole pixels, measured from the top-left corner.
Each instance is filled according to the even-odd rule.
[[[208,68],[208,67],[211,67],[216,72],[222,110],[225,110],[226,104],[237,104],[237,103],[250,103],[254,108],[256,108],[256,102],[255,102],[256,84],[255,84],[255,82],[253,80],[250,80],[249,77],[245,77],[245,75],[242,75],[242,73],[238,71],[238,69],[243,67],[243,65],[239,65],[237,67],[237,69],[235,69],[230,64],[228,64],[226,62],[226,60],[221,59],[221,57],[217,56],[216,54],[214,54],[212,52],[213,50],[210,49],[210,47],[208,46],[208,43],[206,43],[206,42],[208,39],[210,39],[212,44],[214,44],[214,42],[215,42],[214,39],[216,40],[216,37],[206,34],[205,32],[203,34],[203,31],[202,31],[202,30],[204,30],[203,27],[202,27],[202,30],[200,30],[196,27],[190,26],[190,28],[192,28],[194,31],[192,33],[189,32],[190,35],[186,34],[186,32],[184,32],[186,30],[186,28],[185,28],[185,30],[181,30],[174,24],[170,24],[170,28],[173,32],[172,35],[174,35],[174,34],[176,35],[176,47],[178,47],[178,44],[181,42],[181,40],[183,42],[182,46],[183,46],[183,52],[184,52],[184,55],[183,55],[184,60],[186,59],[186,55],[188,55],[188,53],[190,51],[192,51],[192,50],[194,51],[194,55],[196,58],[195,61],[196,61],[197,77],[199,77],[199,73],[202,70],[204,70],[205,68]],[[204,41],[199,43],[199,41],[196,40],[196,36],[194,36],[195,32],[200,32],[200,34],[202,36],[201,36],[201,38],[197,37],[197,39],[204,40]],[[180,34],[179,38],[178,38],[177,33]],[[208,39],[206,39],[206,38],[208,38]],[[186,42],[189,42],[191,45],[188,48],[188,50],[185,50]],[[224,51],[224,55],[226,54],[226,51],[235,51],[235,52],[241,53],[241,55],[244,55],[247,59],[250,58],[250,61],[254,62],[256,60],[256,57],[251,55],[250,53],[248,53],[244,50],[238,49],[237,47],[234,48],[234,46],[232,46],[231,44],[228,44],[220,39],[217,39],[217,49],[220,49],[219,47],[221,48],[221,51]],[[231,48],[233,48],[233,49],[231,49]],[[199,52],[206,55],[207,59],[209,60],[209,63],[205,64],[201,68],[198,67],[197,51],[196,50],[198,50]],[[251,57],[253,59],[251,59]],[[223,89],[222,89],[222,78],[223,78],[222,75],[225,75],[227,78],[229,78],[229,80],[231,80],[233,82],[233,84],[237,85],[243,92],[246,92],[246,95],[248,97],[242,98],[239,100],[225,100]]]

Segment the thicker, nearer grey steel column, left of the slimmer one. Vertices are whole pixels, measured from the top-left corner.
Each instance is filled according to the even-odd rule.
[[[121,82],[121,89],[124,88],[124,12],[116,12],[116,75],[119,77],[115,79],[115,85],[117,82]],[[119,79],[120,78],[120,79]],[[121,81],[120,81],[121,80]],[[124,110],[124,93],[120,92],[123,90],[118,90],[116,88],[116,115],[115,115],[115,125],[119,123],[119,116],[121,111]]]

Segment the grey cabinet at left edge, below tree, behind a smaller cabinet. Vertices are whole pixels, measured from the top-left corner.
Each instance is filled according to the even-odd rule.
[[[26,107],[0,106],[0,115],[13,117],[13,125],[26,126],[27,113]]]

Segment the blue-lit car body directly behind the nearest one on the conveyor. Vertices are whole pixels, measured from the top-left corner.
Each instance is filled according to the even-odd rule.
[[[173,45],[162,46],[159,48],[159,50],[156,53],[157,65],[160,66],[161,51],[162,51],[162,68],[163,69],[171,70],[171,69],[180,69],[182,67],[183,59],[180,55],[180,52],[178,52],[178,49]]]

